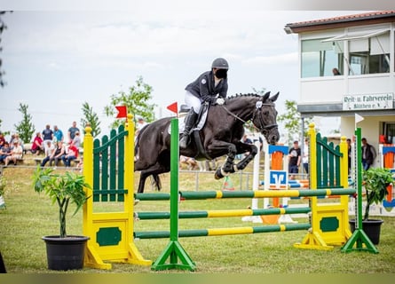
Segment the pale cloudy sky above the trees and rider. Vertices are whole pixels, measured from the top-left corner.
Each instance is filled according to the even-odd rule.
[[[88,102],[107,134],[114,118],[105,116],[104,107],[138,76],[154,89],[150,103],[158,106],[156,118],[168,116],[166,106],[184,103],[186,85],[217,57],[230,65],[228,96],[253,89],[280,91],[281,114],[285,100],[299,98],[297,35],[287,35],[284,26],[361,12],[268,10],[264,1],[227,3],[202,0],[174,8],[169,2],[146,1],[136,9],[50,5],[6,13],[1,130],[14,131],[23,103],[36,131],[48,123],[67,132],[73,121],[80,123],[83,102]],[[337,123],[323,122],[323,130],[329,133]]]

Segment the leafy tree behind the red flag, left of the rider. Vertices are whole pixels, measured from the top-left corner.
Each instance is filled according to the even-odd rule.
[[[137,118],[142,117],[146,122],[153,122],[154,107],[155,104],[149,104],[148,100],[152,99],[153,88],[147,83],[143,82],[143,77],[138,76],[136,80],[136,85],[129,88],[129,93],[124,91],[119,91],[118,94],[111,96],[111,104],[105,106],[104,112],[109,117],[115,117],[117,111],[115,106],[126,106],[128,108],[128,113],[133,114],[133,119],[135,125],[137,123]],[[117,128],[123,120],[115,119],[111,124],[112,128]]]

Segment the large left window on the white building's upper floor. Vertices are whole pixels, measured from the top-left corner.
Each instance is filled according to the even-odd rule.
[[[302,41],[302,78],[333,76],[333,68],[343,74],[343,49],[322,39]]]

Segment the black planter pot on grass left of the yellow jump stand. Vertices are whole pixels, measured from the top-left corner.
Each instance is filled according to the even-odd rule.
[[[83,268],[86,241],[84,236],[45,236],[42,238],[47,248],[48,269],[73,270]]]

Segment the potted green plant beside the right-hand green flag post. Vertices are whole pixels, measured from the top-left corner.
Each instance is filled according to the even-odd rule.
[[[385,196],[388,194],[387,187],[393,183],[392,173],[388,169],[383,168],[370,168],[369,170],[365,170],[362,174],[362,185],[365,186],[366,192],[366,206],[365,213],[362,220],[362,228],[370,241],[374,244],[378,244],[380,241],[380,227],[383,224],[383,220],[380,219],[370,219],[369,212],[370,206],[375,204],[380,204],[385,199]],[[351,220],[352,230],[355,228],[352,222],[355,223],[355,220]]]

